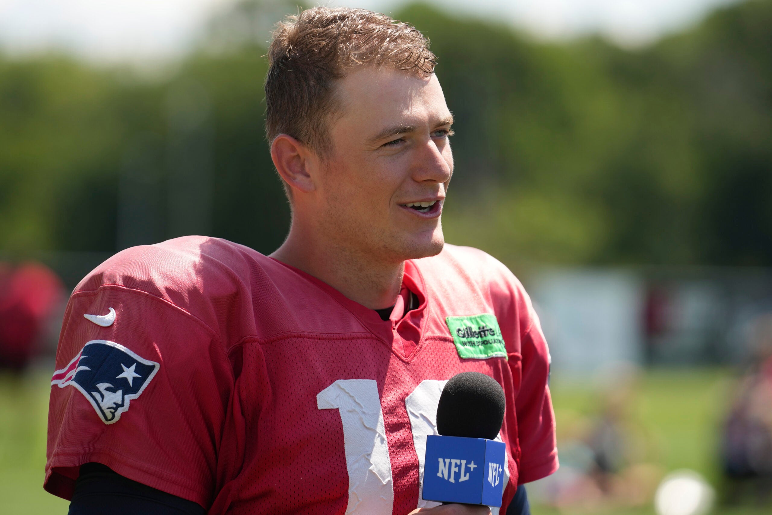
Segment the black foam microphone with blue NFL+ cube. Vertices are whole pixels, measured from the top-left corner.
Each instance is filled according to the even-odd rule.
[[[455,374],[437,405],[437,432],[426,437],[424,500],[500,507],[506,445],[501,430],[506,399],[495,379]]]

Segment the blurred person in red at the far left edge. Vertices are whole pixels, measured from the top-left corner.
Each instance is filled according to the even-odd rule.
[[[39,263],[0,263],[0,370],[24,371],[42,350],[64,285]]]

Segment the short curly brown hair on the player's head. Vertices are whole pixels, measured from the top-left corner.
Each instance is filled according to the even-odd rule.
[[[334,83],[357,66],[389,66],[431,76],[429,41],[415,27],[357,8],[315,7],[288,16],[273,32],[266,76],[266,138],[279,134],[320,156],[332,150],[328,124],[340,109]]]

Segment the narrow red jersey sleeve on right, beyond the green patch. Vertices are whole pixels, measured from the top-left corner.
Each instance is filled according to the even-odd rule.
[[[549,476],[558,467],[555,415],[548,384],[550,351],[539,318],[524,291],[523,295],[528,322],[520,338],[523,375],[515,403],[521,452],[520,484]]]

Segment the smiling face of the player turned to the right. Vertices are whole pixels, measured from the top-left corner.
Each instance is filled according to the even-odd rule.
[[[438,254],[453,158],[437,77],[357,69],[336,93],[342,112],[330,123],[333,151],[317,185],[320,230],[373,259]]]

